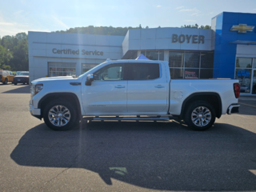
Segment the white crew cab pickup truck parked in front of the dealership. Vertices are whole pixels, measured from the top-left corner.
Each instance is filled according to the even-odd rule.
[[[116,60],[78,78],[31,82],[30,113],[52,130],[70,130],[87,120],[183,119],[207,130],[222,114],[238,113],[235,79],[171,79],[168,62]],[[87,122],[87,121],[86,121]]]

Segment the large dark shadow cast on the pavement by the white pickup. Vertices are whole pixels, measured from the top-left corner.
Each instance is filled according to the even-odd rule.
[[[20,166],[82,168],[154,190],[256,190],[256,134],[215,123],[90,122],[65,132],[40,124],[10,157]]]

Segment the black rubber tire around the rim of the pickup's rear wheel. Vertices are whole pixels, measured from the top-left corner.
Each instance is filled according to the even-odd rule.
[[[206,124],[205,126],[196,125],[199,123],[194,123],[192,121],[192,112],[200,106],[206,107],[206,108],[208,108],[208,110],[210,110],[210,116],[209,115],[207,116],[207,119],[210,120],[210,122],[208,122],[206,124],[206,121],[202,121]],[[198,110],[200,110],[200,109],[202,110],[202,108],[199,108]],[[209,114],[209,113],[207,113],[207,114]],[[214,125],[215,118],[216,118],[216,113],[215,113],[214,107],[209,102],[195,101],[195,102],[190,103],[190,105],[186,107],[186,113],[185,113],[184,120],[186,122],[186,125],[190,126],[190,128],[192,130],[208,130],[211,126]],[[198,122],[198,121],[195,121],[195,122]]]

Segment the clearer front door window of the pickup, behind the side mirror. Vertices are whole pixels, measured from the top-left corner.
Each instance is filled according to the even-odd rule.
[[[120,81],[124,76],[124,63],[110,64],[94,73],[94,81]]]

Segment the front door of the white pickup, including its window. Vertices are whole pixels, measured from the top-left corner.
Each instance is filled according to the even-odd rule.
[[[125,63],[113,63],[94,72],[91,86],[82,85],[82,104],[88,115],[125,114]]]

